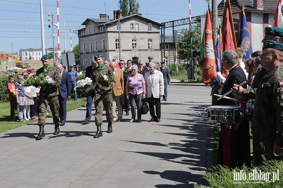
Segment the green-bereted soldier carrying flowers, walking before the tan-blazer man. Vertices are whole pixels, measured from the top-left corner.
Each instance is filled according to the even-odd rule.
[[[94,56],[98,66],[92,69],[91,77],[92,83],[97,81],[99,75],[106,75],[109,80],[114,79],[113,71],[110,67],[104,65],[103,56],[97,54]],[[103,105],[105,107],[106,119],[108,121],[108,130],[107,133],[112,133],[112,90],[107,91],[101,89],[98,85],[95,87],[95,96],[94,96],[94,107],[95,107],[95,124],[97,126],[97,133],[94,135],[94,138],[99,138],[102,136],[101,125],[102,125],[102,115],[103,115]]]

